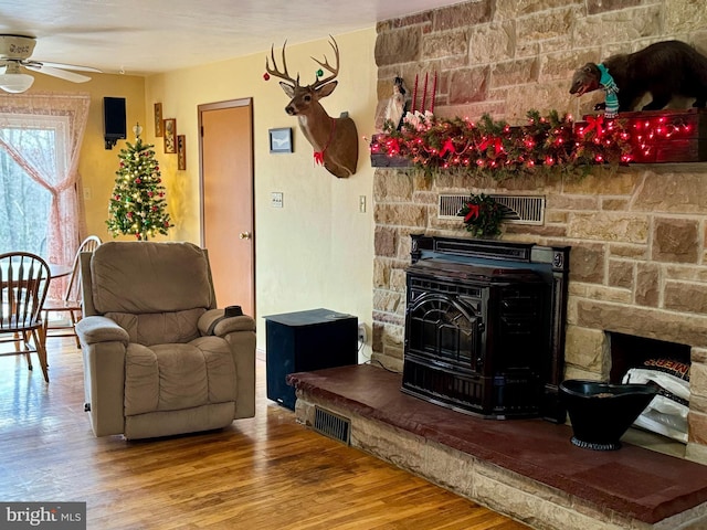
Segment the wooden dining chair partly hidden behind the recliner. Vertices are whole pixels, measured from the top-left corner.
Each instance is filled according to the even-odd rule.
[[[44,328],[42,335],[44,340],[49,337],[49,332],[52,331],[51,337],[74,337],[76,340],[76,348],[81,348],[78,337],[76,337],[76,322],[81,319],[81,308],[83,306],[83,299],[81,294],[80,280],[80,256],[82,252],[93,252],[98,245],[101,245],[101,237],[97,235],[89,235],[86,237],[74,256],[74,263],[72,265],[71,275],[66,283],[66,289],[64,296],[61,298],[48,297],[44,300]],[[63,312],[68,317],[68,324],[53,324],[49,319],[50,312]]]

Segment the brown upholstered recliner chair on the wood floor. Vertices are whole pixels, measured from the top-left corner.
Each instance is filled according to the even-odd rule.
[[[255,322],[215,308],[191,243],[108,242],[82,255],[85,409],[96,436],[147,438],[255,415]]]

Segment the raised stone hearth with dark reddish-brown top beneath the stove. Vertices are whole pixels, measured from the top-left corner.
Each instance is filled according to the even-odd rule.
[[[630,444],[593,452],[571,427],[483,420],[400,391],[368,364],[289,375],[296,415],[350,420],[351,445],[538,529],[707,528],[707,466]]]

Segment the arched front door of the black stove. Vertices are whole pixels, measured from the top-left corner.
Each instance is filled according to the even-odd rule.
[[[405,354],[479,373],[483,331],[482,300],[421,294],[408,307]]]

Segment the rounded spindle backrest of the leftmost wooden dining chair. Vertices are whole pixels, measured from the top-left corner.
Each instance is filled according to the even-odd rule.
[[[0,329],[21,330],[41,322],[50,277],[49,265],[40,256],[0,254]]]

